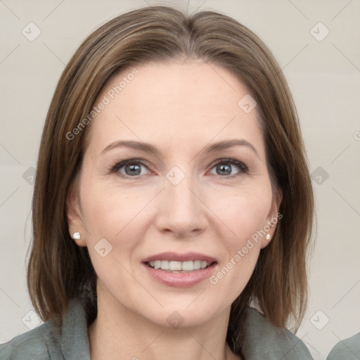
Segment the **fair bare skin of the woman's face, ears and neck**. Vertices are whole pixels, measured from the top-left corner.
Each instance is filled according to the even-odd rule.
[[[137,69],[139,75],[91,123],[79,182],[69,198],[70,234],[81,233],[77,244],[88,247],[98,275],[91,359],[240,359],[226,343],[231,303],[269,240],[259,238],[216,285],[209,279],[190,288],[162,285],[141,260],[165,251],[201,252],[217,259],[216,274],[276,217],[279,203],[256,108],[245,113],[238,101],[248,89],[228,70],[203,60]],[[98,101],[130,72],[111,78]],[[205,146],[233,139],[248,141],[256,153],[250,146],[202,153]],[[159,154],[124,147],[101,153],[119,140],[151,143]],[[134,164],[140,175],[126,167],[111,172],[134,158],[148,164]],[[223,158],[242,162],[248,172],[225,160],[224,174],[213,165]],[[177,185],[166,177],[174,166],[185,174]],[[274,231],[272,226],[269,234]],[[94,249],[101,238],[113,246],[105,257]],[[173,311],[184,319],[179,328],[167,323]]]

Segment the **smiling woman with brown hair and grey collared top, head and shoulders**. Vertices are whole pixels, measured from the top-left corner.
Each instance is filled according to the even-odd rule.
[[[53,96],[27,273],[45,323],[1,359],[312,359],[286,327],[307,306],[313,206],[255,34],[212,11],[120,15]]]

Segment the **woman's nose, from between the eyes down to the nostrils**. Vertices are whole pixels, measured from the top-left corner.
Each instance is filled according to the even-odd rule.
[[[165,179],[158,197],[155,220],[158,230],[173,233],[176,238],[191,238],[202,233],[207,219],[199,187],[188,175],[179,184],[173,184],[169,179]]]

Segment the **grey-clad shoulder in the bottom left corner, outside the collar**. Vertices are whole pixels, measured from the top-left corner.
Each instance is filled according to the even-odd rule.
[[[49,324],[43,323],[26,333],[15,336],[0,345],[1,360],[49,359],[48,338]]]

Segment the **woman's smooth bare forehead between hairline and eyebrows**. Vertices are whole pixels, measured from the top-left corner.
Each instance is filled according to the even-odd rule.
[[[256,108],[245,113],[238,105],[249,95],[236,75],[203,60],[129,68],[111,77],[94,103],[107,105],[91,124],[89,143],[101,151],[119,139],[178,148],[204,146],[214,138],[258,142]]]

